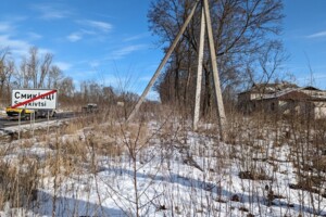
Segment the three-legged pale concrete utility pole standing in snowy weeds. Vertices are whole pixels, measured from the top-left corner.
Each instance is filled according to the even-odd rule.
[[[145,101],[146,95],[148,94],[151,87],[154,85],[155,80],[159,77],[160,72],[162,71],[163,66],[166,64],[170,55],[174,51],[177,42],[179,41],[180,37],[185,33],[189,22],[191,21],[195,11],[199,4],[200,0],[197,0],[189,16],[187,17],[186,22],[184,23],[181,29],[179,30],[178,35],[176,36],[175,40],[173,41],[172,46],[170,47],[168,51],[166,52],[163,61],[159,65],[155,74],[149,81],[148,86],[146,87],[145,91],[140,95],[137,104],[135,105],[134,110],[131,111],[127,122],[130,120],[135,114],[138,112],[141,103]],[[226,125],[226,116],[224,111],[224,104],[222,99],[222,91],[221,91],[221,84],[218,77],[218,69],[217,69],[217,62],[216,62],[216,51],[214,47],[214,39],[213,39],[213,30],[212,30],[212,22],[210,15],[210,7],[208,0],[201,0],[201,30],[200,30],[200,44],[199,44],[199,54],[198,54],[198,76],[197,76],[197,88],[196,88],[196,103],[195,103],[195,113],[193,113],[193,129],[197,129],[198,120],[199,120],[199,108],[200,108],[200,94],[201,94],[201,80],[202,80],[202,63],[203,63],[203,48],[204,48],[204,37],[205,37],[205,28],[208,30],[208,38],[209,38],[209,47],[210,47],[210,54],[211,54],[211,63],[213,69],[213,81],[214,81],[214,93],[215,93],[215,101],[217,106],[217,117],[218,117],[218,127],[220,127],[220,136],[221,140],[224,140],[225,133],[225,125]]]

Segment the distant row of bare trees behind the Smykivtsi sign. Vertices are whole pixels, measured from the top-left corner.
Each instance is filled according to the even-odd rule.
[[[136,100],[131,92],[118,92],[112,87],[99,85],[93,80],[80,82],[77,90],[74,79],[65,76],[63,71],[53,64],[53,54],[40,53],[32,47],[28,53],[16,64],[9,48],[0,50],[0,99],[2,106],[11,103],[13,89],[57,89],[61,105],[99,103],[112,104],[117,101]]]

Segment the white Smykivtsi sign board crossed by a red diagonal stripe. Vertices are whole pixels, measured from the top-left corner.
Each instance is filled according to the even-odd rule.
[[[29,110],[57,108],[57,90],[46,89],[16,89],[12,90],[11,107]]]

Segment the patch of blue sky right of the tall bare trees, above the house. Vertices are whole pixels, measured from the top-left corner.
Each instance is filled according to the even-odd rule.
[[[326,1],[285,0],[285,69],[301,86],[326,89]],[[313,79],[311,79],[311,77]]]

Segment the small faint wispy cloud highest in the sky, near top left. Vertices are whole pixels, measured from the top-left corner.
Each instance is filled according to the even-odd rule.
[[[60,4],[35,4],[33,5],[33,9],[38,11],[41,14],[40,17],[45,20],[65,18],[72,15],[70,10],[64,9]]]

